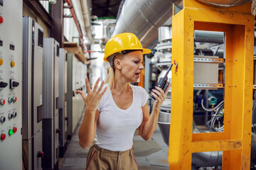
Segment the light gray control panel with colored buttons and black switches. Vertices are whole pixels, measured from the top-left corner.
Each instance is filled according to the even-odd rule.
[[[0,4],[0,164],[22,169],[21,59],[23,1]]]

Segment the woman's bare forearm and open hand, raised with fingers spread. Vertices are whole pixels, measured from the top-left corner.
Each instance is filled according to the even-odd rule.
[[[100,115],[100,111],[97,110],[97,106],[99,105],[100,99],[102,98],[103,94],[105,94],[105,91],[107,90],[106,87],[102,91],[104,81],[102,81],[99,89],[97,89],[99,81],[100,79],[97,79],[93,89],[90,89],[89,81],[86,78],[85,85],[87,89],[87,95],[85,95],[82,91],[77,91],[82,96],[82,99],[83,101],[85,101],[86,106],[85,115],[78,132],[79,145],[82,148],[89,147],[95,138],[97,120],[99,119]]]

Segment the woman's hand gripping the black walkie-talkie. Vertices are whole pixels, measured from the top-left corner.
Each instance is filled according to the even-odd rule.
[[[164,100],[166,99],[167,93],[170,89],[171,84],[169,84],[169,86],[166,88],[166,91],[164,92],[160,87],[156,86],[156,89],[153,89],[151,92],[151,94],[156,98],[156,100],[154,101],[153,104],[153,109],[157,109],[157,111],[160,110],[161,104],[164,102]],[[157,95],[156,95],[157,94]]]

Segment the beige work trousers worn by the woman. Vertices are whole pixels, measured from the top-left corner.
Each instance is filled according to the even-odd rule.
[[[87,154],[86,170],[137,170],[134,151],[114,152],[93,144]]]

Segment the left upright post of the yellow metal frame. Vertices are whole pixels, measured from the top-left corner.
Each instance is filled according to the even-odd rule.
[[[191,169],[193,131],[193,22],[184,9],[172,22],[171,129],[169,136],[170,169]],[[190,142],[188,142],[190,141]]]

